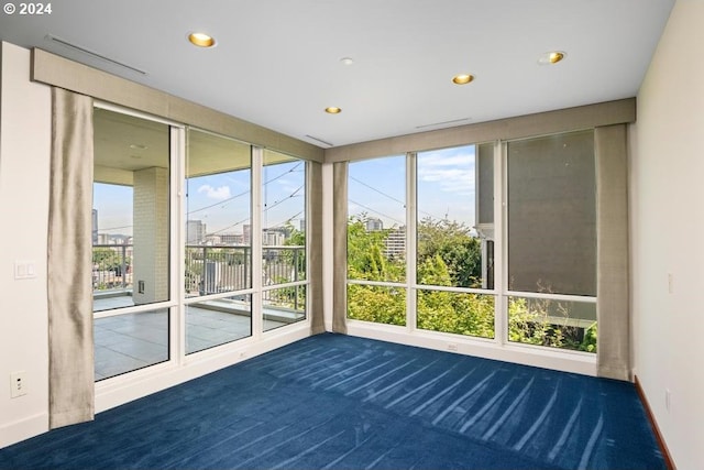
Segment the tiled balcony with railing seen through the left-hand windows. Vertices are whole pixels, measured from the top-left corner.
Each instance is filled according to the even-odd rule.
[[[252,287],[251,250],[186,247],[186,353],[252,335],[252,295],[234,294]],[[134,306],[132,245],[94,245],[94,311]],[[264,331],[306,318],[306,285],[290,285],[304,280],[305,247],[264,247]],[[222,295],[230,292],[233,295]],[[97,318],[96,380],[168,360],[168,320],[165,308]]]

